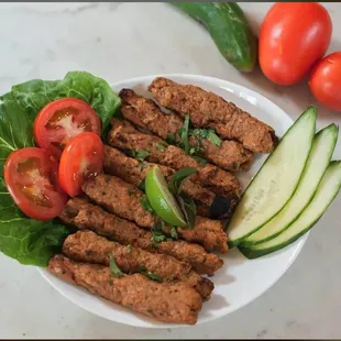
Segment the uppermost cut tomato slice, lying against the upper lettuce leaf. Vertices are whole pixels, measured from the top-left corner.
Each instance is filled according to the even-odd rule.
[[[34,121],[38,146],[59,158],[67,143],[84,132],[101,133],[96,111],[77,98],[57,99],[44,107]]]

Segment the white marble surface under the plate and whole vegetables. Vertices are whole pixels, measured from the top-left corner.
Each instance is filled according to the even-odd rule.
[[[258,29],[271,3],[242,3]],[[341,6],[330,51],[341,50]],[[1,3],[0,94],[31,78],[72,69],[109,81],[157,73],[228,79],[268,97],[297,118],[314,102],[305,82],[277,87],[261,72],[241,75],[207,32],[165,3]],[[319,125],[341,116],[319,108]],[[336,157],[341,157],[340,143]],[[295,264],[266,294],[241,310],[198,327],[139,329],[98,318],[56,293],[34,268],[0,254],[0,338],[340,338],[341,196],[314,230]]]

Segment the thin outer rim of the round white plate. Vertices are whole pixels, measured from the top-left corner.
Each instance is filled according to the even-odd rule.
[[[167,77],[167,78],[182,78],[184,80],[186,79],[191,79],[191,80],[198,80],[198,81],[207,81],[207,82],[210,82],[210,84],[216,84],[217,87],[219,87],[220,85],[231,85],[232,87],[237,87],[239,88],[240,90],[246,90],[249,94],[254,94],[256,95],[257,97],[261,97],[262,98],[262,101],[265,103],[265,105],[271,105],[271,106],[275,106],[277,108],[277,112],[280,111],[280,116],[285,116],[289,121],[290,123],[293,124],[294,123],[294,120],[279,107],[277,106],[275,102],[273,102],[272,100],[270,100],[268,98],[266,98],[264,95],[253,90],[253,89],[250,89],[249,87],[245,87],[243,85],[240,85],[238,82],[233,82],[233,81],[229,81],[229,80],[224,80],[224,79],[221,79],[221,78],[218,78],[218,77],[211,77],[211,76],[205,76],[205,75],[198,75],[198,74],[179,74],[179,73],[167,73],[167,74],[154,74],[154,75],[144,75],[144,76],[138,76],[138,77],[132,77],[132,78],[128,78],[128,79],[121,79],[121,80],[118,80],[118,81],[114,81],[114,82],[109,82],[108,84],[110,85],[111,88],[114,88],[114,87],[120,87],[122,86],[123,84],[127,84],[127,82],[139,82],[139,81],[146,81],[147,79],[154,79],[156,77]],[[227,90],[227,89],[226,89]],[[243,98],[244,100],[248,101],[248,99]],[[249,101],[250,102],[250,101]],[[234,311],[243,308],[243,307],[246,307],[249,304],[253,302],[254,300],[261,298],[261,296],[266,293],[272,286],[274,286],[282,277],[283,275],[288,271],[288,268],[293,265],[293,263],[295,262],[295,260],[297,258],[297,256],[299,255],[299,253],[301,252],[308,237],[309,237],[310,232],[306,233],[304,237],[301,237],[295,248],[295,250],[293,250],[293,254],[290,256],[290,258],[288,260],[288,262],[286,263],[286,266],[284,268],[284,271],[282,272],[282,274],[273,279],[272,282],[267,283],[267,285],[260,292],[260,294],[255,297],[253,297],[252,299],[250,300],[246,300],[240,305],[237,305],[237,307],[231,310],[231,311],[228,311],[227,314],[223,314],[219,317],[211,317],[211,318],[207,318],[202,321],[200,321],[200,319],[198,319],[198,322],[195,324],[195,326],[199,326],[199,324],[204,324],[204,323],[207,323],[207,322],[211,322],[213,320],[219,320],[223,317],[227,317],[228,315],[230,314],[233,314]],[[47,270],[44,267],[44,268],[41,268],[41,267],[36,267],[37,268],[37,272],[41,274],[41,276],[47,280],[47,283],[55,289],[57,290],[62,296],[64,296],[65,298],[67,298],[68,300],[70,300],[73,304],[75,304],[76,306],[82,308],[84,310],[92,314],[92,315],[96,315],[96,316],[99,316],[101,318],[105,318],[106,320],[109,320],[109,321],[112,321],[112,322],[116,322],[116,323],[120,323],[120,324],[125,324],[125,326],[132,326],[132,327],[138,327],[138,328],[151,328],[151,329],[166,329],[166,328],[188,328],[188,327],[195,327],[195,326],[187,326],[187,324],[178,324],[178,323],[174,323],[174,324],[170,324],[170,323],[163,323],[161,322],[162,324],[152,324],[152,326],[145,326],[145,324],[136,324],[134,322],[130,322],[130,321],[117,321],[114,319],[111,319],[110,317],[108,316],[105,316],[101,312],[98,312],[98,311],[94,311],[94,310],[90,310],[90,308],[88,308],[86,305],[82,304],[81,300],[79,299],[76,299],[74,297],[74,295],[68,295],[66,290],[62,289],[59,286],[55,285],[51,278],[48,278],[48,275],[50,273],[47,272]],[[92,295],[90,293],[87,293],[87,295]],[[132,311],[132,314],[138,314],[138,312],[134,312]]]

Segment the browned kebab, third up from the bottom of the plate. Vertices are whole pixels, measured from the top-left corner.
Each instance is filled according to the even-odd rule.
[[[189,263],[199,274],[213,275],[223,265],[221,258],[213,253],[206,252],[198,244],[167,240],[158,231],[140,229],[133,222],[108,213],[84,198],[68,200],[61,219],[66,224],[80,230],[92,230],[97,234],[108,237],[123,245],[131,244],[150,252],[170,255]]]

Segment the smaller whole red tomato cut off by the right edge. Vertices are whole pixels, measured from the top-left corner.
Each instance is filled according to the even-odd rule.
[[[341,111],[341,52],[317,63],[309,77],[309,87],[321,105]]]

